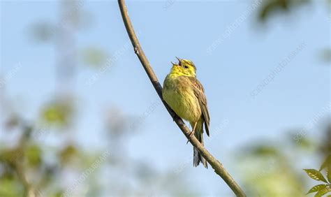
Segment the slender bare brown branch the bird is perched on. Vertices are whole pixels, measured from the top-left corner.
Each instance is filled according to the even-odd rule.
[[[145,53],[142,51],[142,48],[140,46],[140,43],[138,41],[137,36],[135,36],[135,31],[133,29],[133,26],[131,24],[131,20],[128,17],[128,10],[126,9],[126,5],[124,0],[118,0],[119,3],[119,9],[121,10],[122,18],[124,25],[126,27],[126,31],[128,32],[128,37],[130,37],[131,43],[133,45],[133,49],[135,51],[135,54],[137,54],[140,63],[142,64],[142,67],[145,68],[145,71],[149,77],[149,80],[151,80],[152,85],[154,86],[157,94],[159,94],[159,97],[163,104],[165,105],[165,108],[168,110],[169,114],[171,115],[172,119],[176,122],[178,125],[179,129],[182,130],[186,138],[190,141],[190,143],[196,147],[200,154],[203,155],[203,157],[208,161],[210,166],[214,169],[215,173],[219,175],[225,182],[228,184],[230,189],[233,190],[236,196],[246,196],[244,194],[244,191],[239,187],[239,185],[233,180],[233,177],[230,176],[230,174],[226,171],[226,169],[223,167],[222,163],[217,161],[217,159],[210,154],[205,147],[197,140],[195,136],[192,136],[192,138],[189,138],[189,128],[186,126],[186,124],[183,122],[183,120],[178,117],[174,111],[169,108],[167,103],[163,101],[162,97],[162,87],[159,83],[159,80],[156,78],[156,75],[152,69],[152,66],[150,66],[149,61],[147,57],[145,56]]]

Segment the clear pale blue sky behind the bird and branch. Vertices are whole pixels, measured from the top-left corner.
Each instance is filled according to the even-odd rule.
[[[175,56],[196,64],[207,94],[211,128],[228,120],[217,138],[206,143],[207,149],[234,177],[231,154],[236,149],[263,139],[279,141],[289,129],[302,128],[330,103],[330,66],[318,59],[319,52],[331,44],[325,1],[302,6],[289,15],[276,15],[263,26],[256,22],[257,10],[253,10],[208,53],[252,2],[127,2],[142,48],[161,83]],[[92,22],[91,27],[75,34],[77,48],[96,45],[113,54],[127,45],[116,1],[88,1],[82,9],[91,14]],[[27,119],[38,115],[56,87],[54,45],[33,43],[27,35],[29,27],[34,22],[57,22],[58,11],[57,1],[1,0],[1,73],[6,75],[17,64],[22,65],[8,80],[6,91]],[[251,96],[301,43],[305,47],[256,97]],[[74,85],[81,107],[75,133],[87,148],[105,147],[101,131],[105,129],[104,109],[109,105],[139,117],[159,101],[131,47],[87,87],[87,80],[97,72],[78,64]],[[128,141],[131,156],[145,158],[160,169],[176,169],[192,156],[191,145],[186,145],[162,105],[138,129],[140,132]],[[318,137],[318,131],[315,126],[308,135]],[[213,138],[213,130],[210,133]],[[219,187],[219,178],[212,170],[193,168],[190,163],[185,173],[191,174],[191,182],[206,194],[230,194],[223,184]]]

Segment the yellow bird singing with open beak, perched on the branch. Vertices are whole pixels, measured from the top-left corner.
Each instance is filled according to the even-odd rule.
[[[178,63],[171,61],[172,68],[163,82],[162,97],[179,117],[191,124],[189,138],[194,135],[203,145],[203,127],[209,136],[210,123],[205,89],[196,78],[193,62],[176,58]],[[200,162],[208,168],[205,158],[193,147],[193,166],[198,166]]]

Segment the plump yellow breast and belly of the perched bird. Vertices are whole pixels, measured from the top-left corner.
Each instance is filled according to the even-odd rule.
[[[193,92],[191,81],[186,76],[167,75],[163,83],[164,101],[179,117],[189,122],[197,122],[201,117],[201,108]]]

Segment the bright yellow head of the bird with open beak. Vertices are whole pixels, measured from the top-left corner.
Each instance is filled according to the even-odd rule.
[[[170,75],[174,76],[189,76],[196,77],[196,66],[194,66],[193,62],[188,59],[178,59],[178,63],[173,63],[170,71]]]

